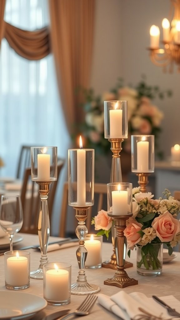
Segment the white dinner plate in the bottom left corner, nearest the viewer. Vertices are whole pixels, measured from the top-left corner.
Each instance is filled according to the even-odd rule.
[[[30,319],[46,306],[44,298],[31,293],[0,291],[0,319]]]

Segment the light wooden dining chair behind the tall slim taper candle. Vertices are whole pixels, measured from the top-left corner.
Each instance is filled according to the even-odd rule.
[[[104,200],[106,201],[106,205],[103,208]],[[89,231],[91,229],[92,211],[95,211],[97,214],[98,211],[100,211],[101,209],[107,210],[106,208],[107,208],[107,184],[94,183],[94,206],[90,206],[90,208],[88,209],[88,214],[86,219],[86,227]],[[68,211],[68,182],[65,181],[63,186],[63,192],[62,192],[60,228],[59,228],[60,237],[65,237],[66,235],[67,211]]]

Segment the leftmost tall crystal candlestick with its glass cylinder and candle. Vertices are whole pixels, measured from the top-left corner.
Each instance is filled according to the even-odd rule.
[[[47,260],[47,247],[50,236],[50,221],[47,198],[50,184],[57,180],[57,147],[31,147],[31,180],[39,186],[41,199],[38,236],[41,249],[39,268],[30,273],[34,279],[43,279],[43,265]]]

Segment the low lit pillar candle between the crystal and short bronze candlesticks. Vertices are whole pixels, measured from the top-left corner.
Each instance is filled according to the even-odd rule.
[[[85,241],[87,250],[86,267],[98,266],[102,263],[101,241],[94,239],[91,235],[90,240]]]

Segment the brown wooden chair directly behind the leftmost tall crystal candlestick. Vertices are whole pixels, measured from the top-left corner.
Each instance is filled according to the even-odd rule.
[[[57,180],[53,181],[53,183],[50,185],[50,191],[47,199],[50,221],[52,218],[53,204],[58,180],[63,165],[64,159],[58,158]],[[23,225],[20,229],[20,232],[37,234],[41,201],[38,192],[38,185],[35,181],[31,180],[31,168],[26,168],[24,172],[24,179],[21,188],[21,202],[23,208]]]

